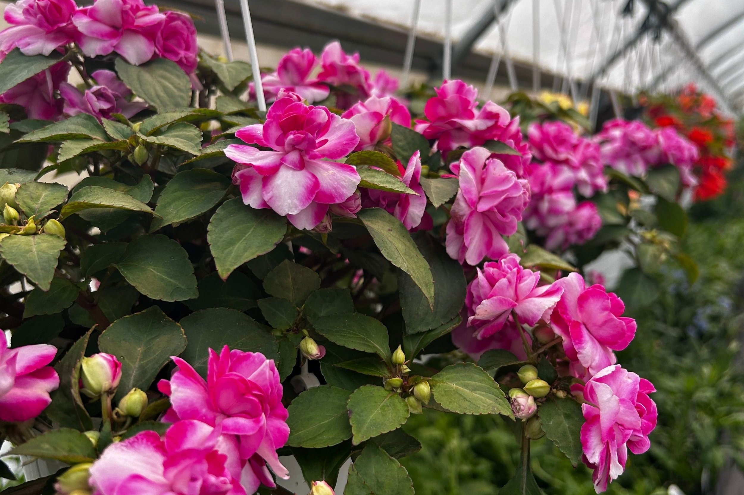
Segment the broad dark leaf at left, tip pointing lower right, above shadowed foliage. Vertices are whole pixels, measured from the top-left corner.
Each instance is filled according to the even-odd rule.
[[[199,296],[188,253],[167,236],[150,234],[130,242],[116,268],[152,299],[184,301]]]

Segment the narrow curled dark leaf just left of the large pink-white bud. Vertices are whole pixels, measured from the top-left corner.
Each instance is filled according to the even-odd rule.
[[[93,422],[80,398],[80,360],[86,355],[93,329],[75,342],[67,354],[54,365],[60,386],[51,392],[51,404],[44,411],[55,424],[75,430],[92,430]]]

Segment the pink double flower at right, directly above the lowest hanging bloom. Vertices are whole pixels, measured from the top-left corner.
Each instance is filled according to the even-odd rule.
[[[587,380],[617,363],[613,351],[625,349],[635,337],[635,320],[621,316],[625,305],[602,285],[586,287],[579,274],[568,274],[554,286],[563,294],[551,315],[551,326],[563,338],[569,371]]]

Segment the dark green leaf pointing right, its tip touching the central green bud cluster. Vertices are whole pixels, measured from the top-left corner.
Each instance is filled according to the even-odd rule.
[[[388,329],[365,314],[334,314],[316,318],[315,331],[331,342],[362,352],[374,352],[389,359]]]

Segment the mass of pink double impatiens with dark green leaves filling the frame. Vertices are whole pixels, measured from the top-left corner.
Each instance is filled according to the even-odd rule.
[[[0,439],[70,465],[24,493],[283,494],[293,455],[314,495],[347,459],[344,493],[409,495],[423,408],[517,426],[503,494],[539,494],[532,439],[597,491],[649,449],[654,388],[615,357],[635,321],[579,268],[624,243],[638,283],[670,256],[693,278],[676,132],[579,135],[460,80],[411,119],[339,42],[261,74],[264,113],[182,13],[5,15]]]

